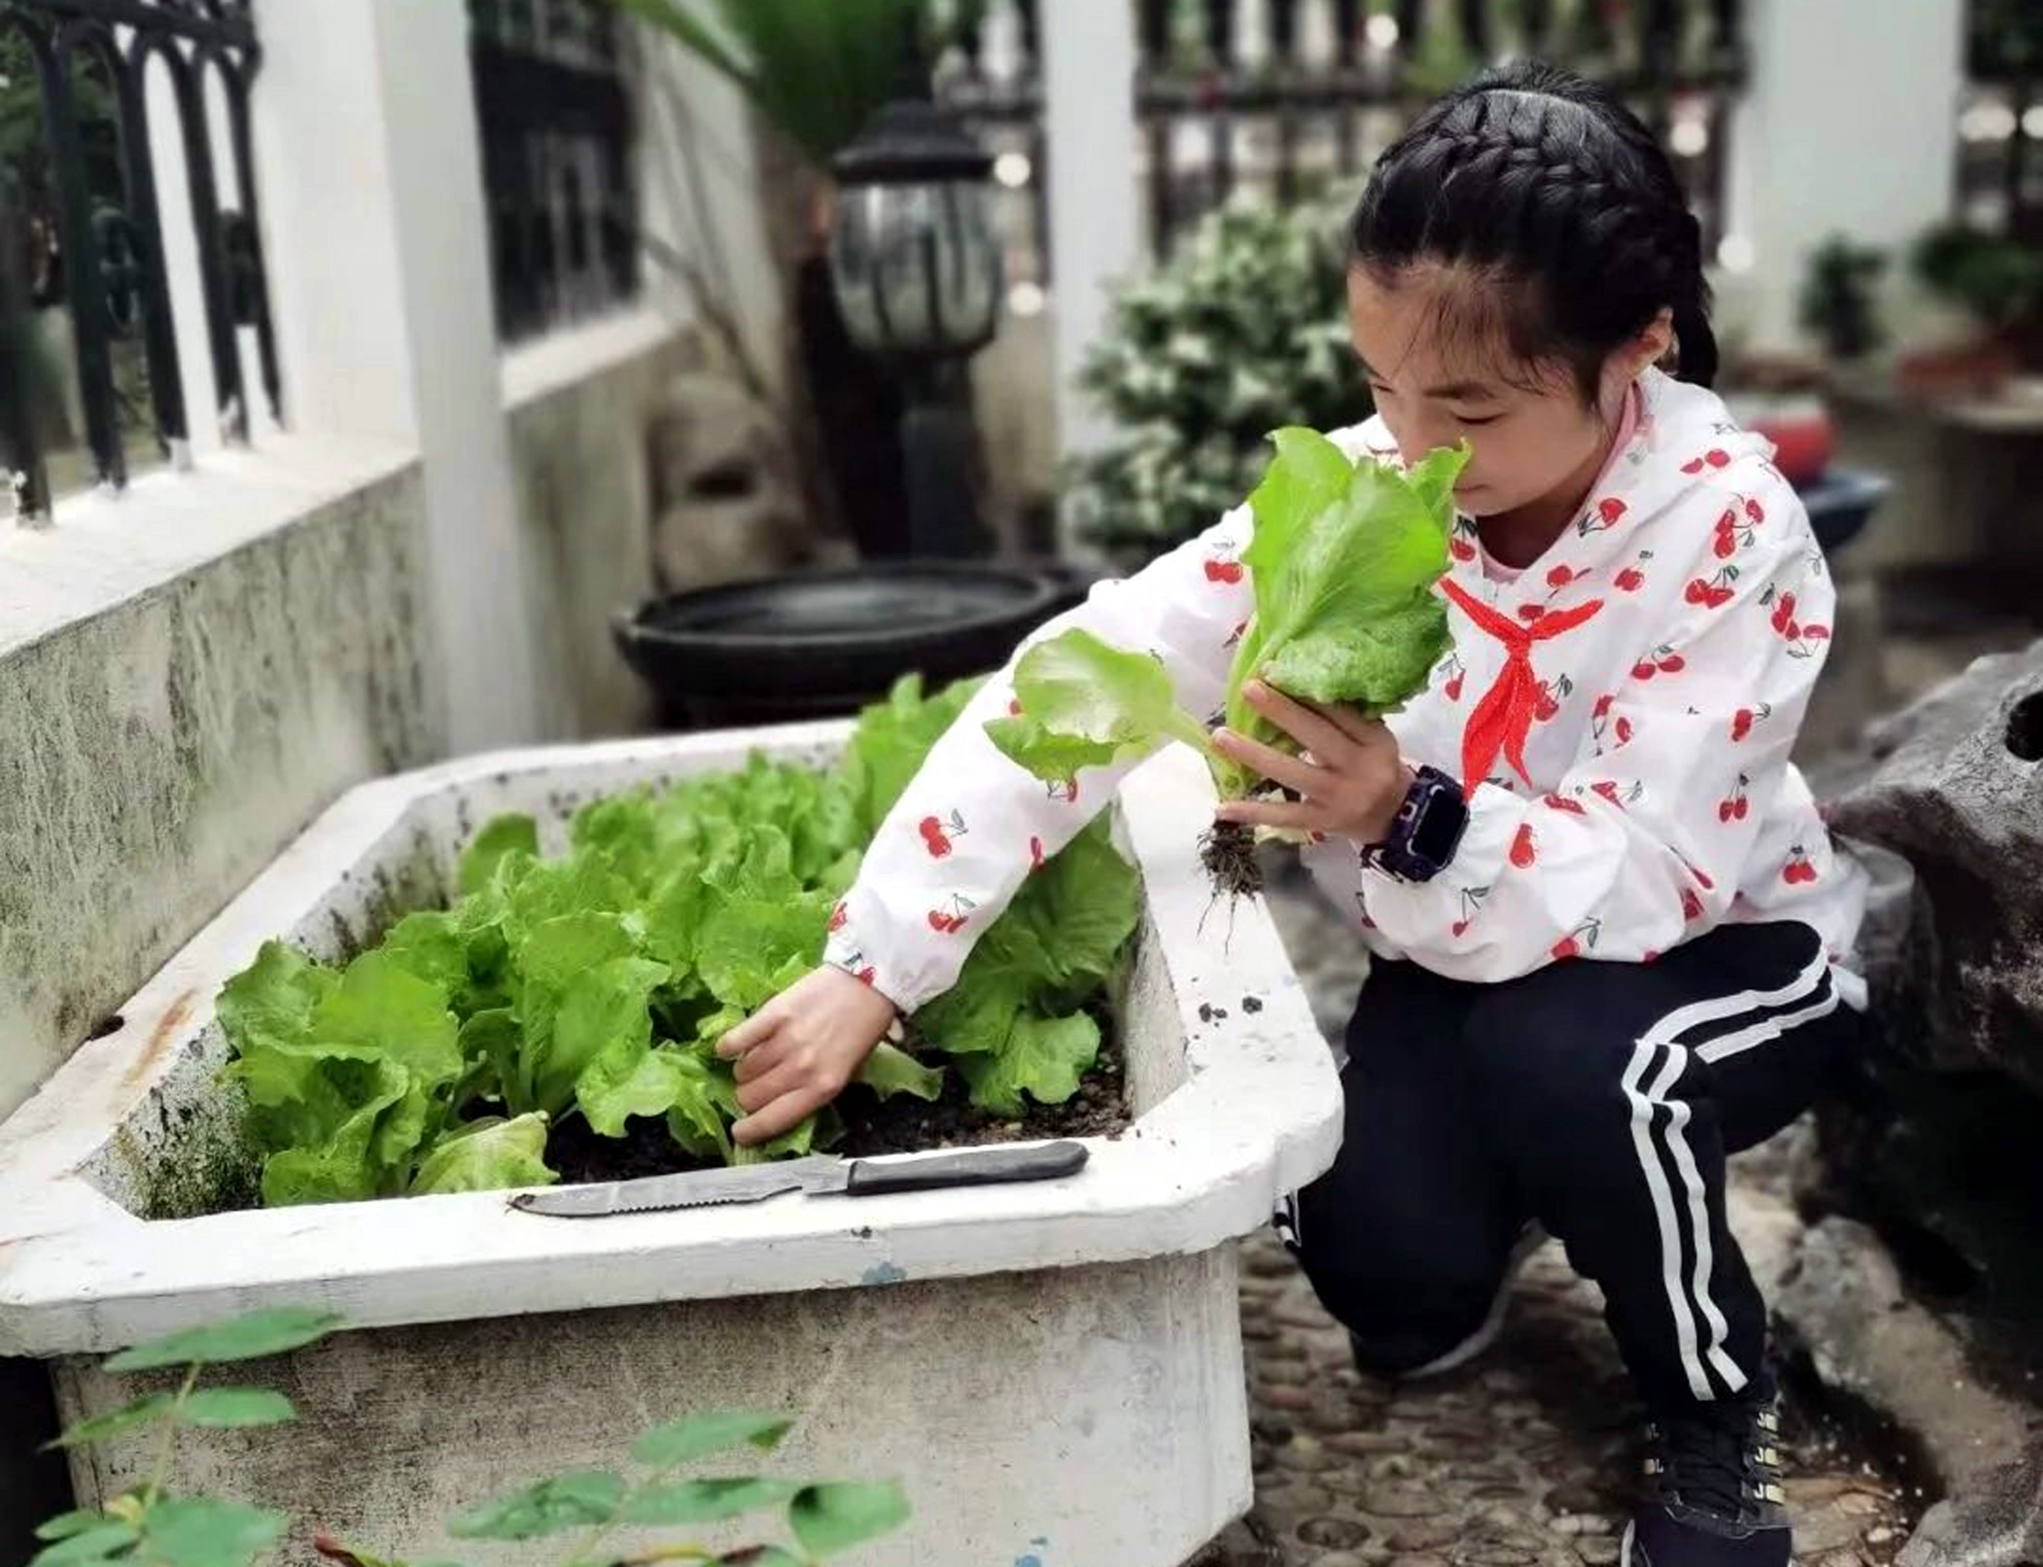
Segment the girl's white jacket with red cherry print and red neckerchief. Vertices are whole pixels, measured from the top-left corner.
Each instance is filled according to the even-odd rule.
[[[1457,525],[1442,580],[1455,650],[1389,719],[1414,766],[1475,768],[1453,864],[1406,885],[1348,840],[1301,850],[1377,954],[1504,981],[1557,958],[1651,962],[1726,921],[1800,919],[1849,962],[1865,874],[1788,762],[1828,652],[1822,552],[1763,437],[1698,386],[1649,372],[1641,390],[1632,437],[1538,564],[1491,580],[1475,525]],[[1381,421],[1330,439],[1395,460]],[[1187,711],[1218,713],[1254,609],[1248,535],[1236,507],[1030,642],[1083,625],[1150,650]],[[832,921],[823,958],[907,1011],[950,989],[1030,868],[1134,766],[1087,768],[1064,789],[1009,762],[983,723],[1009,711],[1011,674],[938,742]]]

